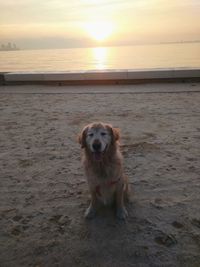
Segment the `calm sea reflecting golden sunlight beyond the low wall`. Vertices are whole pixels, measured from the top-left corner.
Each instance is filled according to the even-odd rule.
[[[0,51],[0,72],[200,68],[200,43]]]

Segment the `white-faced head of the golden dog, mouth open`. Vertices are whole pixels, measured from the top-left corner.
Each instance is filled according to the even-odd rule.
[[[119,140],[119,129],[112,125],[98,122],[85,126],[79,135],[79,143],[86,148],[94,159],[100,161],[103,155]]]

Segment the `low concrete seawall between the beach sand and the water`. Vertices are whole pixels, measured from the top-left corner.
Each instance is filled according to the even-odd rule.
[[[96,70],[68,72],[5,72],[0,85],[19,84],[134,84],[151,82],[200,81],[200,69]]]

